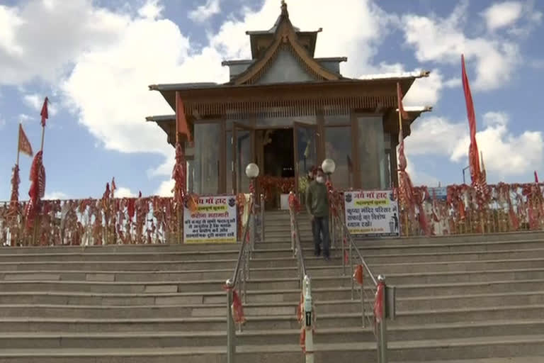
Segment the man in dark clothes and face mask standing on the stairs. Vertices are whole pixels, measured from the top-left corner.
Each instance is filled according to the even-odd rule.
[[[306,193],[306,209],[312,219],[312,234],[314,235],[314,255],[329,259],[329,193],[325,185],[323,169],[317,168],[315,180],[310,183]]]

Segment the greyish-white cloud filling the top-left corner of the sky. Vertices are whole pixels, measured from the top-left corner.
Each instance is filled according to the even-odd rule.
[[[88,0],[29,0],[0,14],[0,84],[13,85],[57,84],[82,52],[113,45],[129,20]]]

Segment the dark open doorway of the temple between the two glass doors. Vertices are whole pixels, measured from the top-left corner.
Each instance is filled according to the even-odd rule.
[[[285,194],[295,189],[293,128],[256,130],[256,146],[259,189],[266,195],[266,208],[285,208]]]

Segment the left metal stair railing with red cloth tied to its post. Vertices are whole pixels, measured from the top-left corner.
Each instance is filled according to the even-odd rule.
[[[261,205],[261,208],[264,206]],[[262,212],[261,212],[262,213]],[[261,221],[264,223],[264,221]],[[262,225],[262,224],[261,224]],[[242,240],[240,241],[240,249],[238,259],[232,278],[225,283],[227,291],[227,362],[234,363],[234,354],[236,353],[236,327],[238,324],[239,331],[242,331],[244,323],[244,315],[242,311],[242,299],[247,303],[246,281],[249,280],[249,261],[255,247],[256,235],[256,220],[255,220],[255,203],[254,195],[249,199],[249,215]],[[236,290],[238,289],[238,292]]]

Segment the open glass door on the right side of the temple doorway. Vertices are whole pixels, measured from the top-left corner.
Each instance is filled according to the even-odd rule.
[[[307,174],[317,166],[317,128],[315,125],[293,123],[295,145],[295,192],[303,194],[307,186]]]

